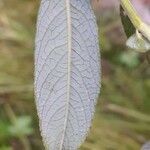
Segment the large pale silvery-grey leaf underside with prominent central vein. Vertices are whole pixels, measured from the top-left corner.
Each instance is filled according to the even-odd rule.
[[[48,150],[85,140],[99,93],[99,46],[90,0],[43,0],[35,51],[35,95]]]

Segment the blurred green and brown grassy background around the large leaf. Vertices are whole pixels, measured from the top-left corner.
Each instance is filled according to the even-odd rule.
[[[150,139],[150,65],[126,48],[116,7],[94,6],[102,88],[81,150],[139,150]],[[44,150],[33,96],[38,7],[38,0],[0,0],[0,150]]]

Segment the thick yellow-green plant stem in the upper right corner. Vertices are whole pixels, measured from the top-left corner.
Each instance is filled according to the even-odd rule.
[[[150,27],[141,20],[130,0],[120,0],[120,2],[135,28],[150,42]]]

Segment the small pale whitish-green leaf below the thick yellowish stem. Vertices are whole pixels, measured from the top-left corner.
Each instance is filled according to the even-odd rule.
[[[147,52],[150,50],[150,43],[144,37],[138,37],[136,34],[133,34],[126,42],[126,45],[132,49],[135,49],[138,52]]]

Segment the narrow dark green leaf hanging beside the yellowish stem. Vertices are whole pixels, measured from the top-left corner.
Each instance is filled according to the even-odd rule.
[[[121,22],[124,28],[124,32],[129,38],[132,34],[135,33],[135,27],[133,26],[132,22],[130,21],[129,17],[125,14],[124,9],[120,5],[120,16],[121,16]]]

